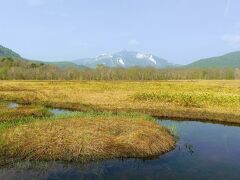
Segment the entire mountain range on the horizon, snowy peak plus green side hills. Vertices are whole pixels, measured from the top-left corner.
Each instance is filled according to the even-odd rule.
[[[0,45],[0,57],[22,58],[18,53]],[[24,59],[26,60],[26,59]],[[33,61],[42,62],[42,61]],[[175,65],[163,58],[159,58],[153,54],[146,54],[134,51],[120,51],[113,54],[102,54],[95,58],[82,58],[74,61],[61,62],[42,62],[44,64],[51,64],[60,68],[65,67],[91,67],[95,68],[98,65],[105,65],[108,67],[186,67],[186,68],[240,68],[240,51],[231,52],[222,56],[200,59],[191,64],[180,66]]]

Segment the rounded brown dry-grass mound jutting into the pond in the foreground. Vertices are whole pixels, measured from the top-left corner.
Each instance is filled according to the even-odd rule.
[[[174,148],[175,138],[143,116],[83,113],[7,129],[0,143],[6,157],[86,162],[158,155]]]

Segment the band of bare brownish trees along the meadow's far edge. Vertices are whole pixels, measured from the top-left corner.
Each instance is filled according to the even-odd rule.
[[[1,80],[191,80],[240,79],[240,68],[106,67],[59,68],[44,63],[0,59]]]

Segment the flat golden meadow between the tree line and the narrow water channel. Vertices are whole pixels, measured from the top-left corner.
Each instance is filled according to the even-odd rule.
[[[240,123],[240,81],[1,81],[0,99],[79,111]]]

